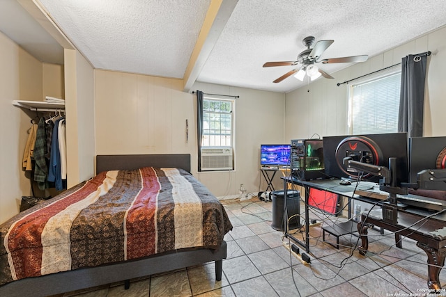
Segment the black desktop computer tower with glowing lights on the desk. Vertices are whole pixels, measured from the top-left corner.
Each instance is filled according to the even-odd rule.
[[[322,139],[291,140],[290,167],[298,179],[325,178]]]

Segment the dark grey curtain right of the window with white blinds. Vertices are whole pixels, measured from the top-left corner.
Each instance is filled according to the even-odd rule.
[[[423,136],[424,81],[429,52],[408,55],[401,62],[398,131],[409,137]]]

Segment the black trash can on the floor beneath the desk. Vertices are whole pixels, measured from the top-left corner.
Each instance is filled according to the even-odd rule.
[[[284,191],[272,191],[272,223],[271,227],[275,230],[285,231],[285,209],[284,209]],[[300,227],[300,192],[295,190],[286,191],[286,212],[289,221],[288,230]],[[297,216],[294,216],[297,215]]]

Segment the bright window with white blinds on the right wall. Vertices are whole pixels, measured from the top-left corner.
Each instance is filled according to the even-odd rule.
[[[351,86],[348,104],[348,131],[382,134],[398,131],[401,71]]]

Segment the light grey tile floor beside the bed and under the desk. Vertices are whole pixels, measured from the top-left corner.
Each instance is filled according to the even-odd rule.
[[[425,253],[415,241],[403,239],[397,248],[394,235],[369,230],[369,252],[361,256],[356,236],[342,236],[339,250],[322,241],[322,224],[310,227],[311,264],[290,254],[284,234],[270,227],[272,202],[257,198],[224,202],[233,230],[226,234],[227,259],[222,280],[215,281],[214,264],[132,280],[123,284],[71,292],[63,296],[428,296]],[[302,208],[301,208],[302,209]],[[320,216],[320,214],[316,214]],[[311,216],[310,216],[311,217]],[[293,236],[303,239],[298,230]],[[335,243],[332,236],[325,239]],[[301,248],[301,251],[302,248]],[[304,251],[305,252],[305,251]],[[443,269],[440,280],[446,284]],[[446,295],[446,294],[442,294]]]

